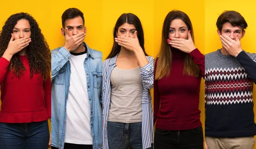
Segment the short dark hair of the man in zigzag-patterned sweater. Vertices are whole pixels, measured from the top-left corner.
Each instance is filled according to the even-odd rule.
[[[244,17],[237,11],[224,11],[217,19],[216,26],[221,32],[224,23],[230,23],[232,26],[240,26],[242,30],[247,28]]]

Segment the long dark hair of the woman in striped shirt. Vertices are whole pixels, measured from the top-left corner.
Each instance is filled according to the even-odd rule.
[[[108,55],[108,58],[114,57],[116,56],[116,54],[118,54],[121,50],[121,46],[119,46],[116,42],[115,42],[115,38],[117,37],[117,31],[119,26],[122,26],[122,24],[124,23],[128,23],[128,24],[133,24],[137,30],[137,37],[139,39],[139,43],[141,48],[143,49],[143,52],[146,56],[148,56],[148,54],[145,52],[145,48],[144,48],[144,32],[143,32],[143,27],[142,24],[140,22],[140,19],[132,13],[128,13],[128,14],[122,14],[116,21],[116,25],[113,29],[113,47],[111,49],[110,54]]]

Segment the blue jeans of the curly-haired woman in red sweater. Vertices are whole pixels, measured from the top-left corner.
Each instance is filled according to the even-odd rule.
[[[0,149],[47,149],[48,121],[0,123]]]

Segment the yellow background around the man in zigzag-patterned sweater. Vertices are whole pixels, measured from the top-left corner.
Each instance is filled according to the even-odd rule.
[[[250,2],[250,3],[249,3]],[[241,46],[246,52],[256,53],[256,3],[252,0],[242,3],[241,0],[206,0],[205,3],[205,53],[221,49],[221,41],[217,34],[216,21],[225,10],[238,11],[246,20],[248,27],[241,39]],[[256,101],[256,85],[254,85],[253,99]],[[256,106],[254,104],[254,113]],[[256,149],[256,146],[255,148]]]

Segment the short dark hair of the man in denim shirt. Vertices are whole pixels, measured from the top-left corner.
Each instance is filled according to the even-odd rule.
[[[61,16],[62,27],[65,27],[65,21],[67,19],[73,19],[75,17],[81,17],[84,23],[84,14],[77,8],[69,8],[65,10]]]

